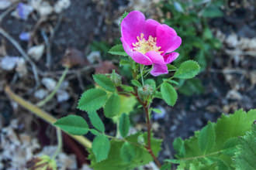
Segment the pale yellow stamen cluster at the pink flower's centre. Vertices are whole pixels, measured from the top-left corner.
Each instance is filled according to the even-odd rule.
[[[133,43],[133,49],[140,53],[147,53],[149,51],[155,51],[157,53],[162,53],[162,51],[159,51],[161,49],[161,46],[157,46],[157,37],[148,36],[148,39],[146,40],[144,38],[144,33],[140,33],[140,36],[137,36],[137,42]]]

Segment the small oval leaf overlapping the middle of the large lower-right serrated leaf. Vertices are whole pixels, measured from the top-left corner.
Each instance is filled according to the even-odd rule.
[[[216,135],[213,124],[209,123],[205,128],[202,128],[199,133],[199,148],[201,151],[206,153],[211,150],[215,144],[215,138]]]

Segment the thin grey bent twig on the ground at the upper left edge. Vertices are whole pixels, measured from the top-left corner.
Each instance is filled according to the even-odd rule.
[[[25,51],[22,49],[21,46],[19,46],[19,43],[16,42],[15,39],[12,38],[12,36],[10,36],[7,32],[5,32],[4,29],[0,28],[0,34],[2,34],[2,36],[4,36],[6,39],[9,40],[9,42],[12,42],[12,45],[16,47],[16,49],[18,49],[19,53],[21,53],[21,55],[26,59],[26,61],[29,62],[29,64],[32,66],[32,70],[33,70],[33,74],[36,80],[36,87],[39,86],[40,81],[38,78],[38,73],[36,70],[36,65],[35,63],[33,63],[33,61],[29,58],[29,56],[25,53]]]

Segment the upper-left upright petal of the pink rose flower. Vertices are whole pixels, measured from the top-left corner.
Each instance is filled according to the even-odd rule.
[[[137,36],[144,29],[145,16],[139,11],[130,12],[121,23],[122,39],[130,48],[132,44],[137,42]]]

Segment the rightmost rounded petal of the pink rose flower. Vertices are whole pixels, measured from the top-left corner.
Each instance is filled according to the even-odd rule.
[[[162,24],[157,26],[157,46],[161,46],[161,51],[171,53],[182,44],[181,37],[177,36],[175,29]]]

